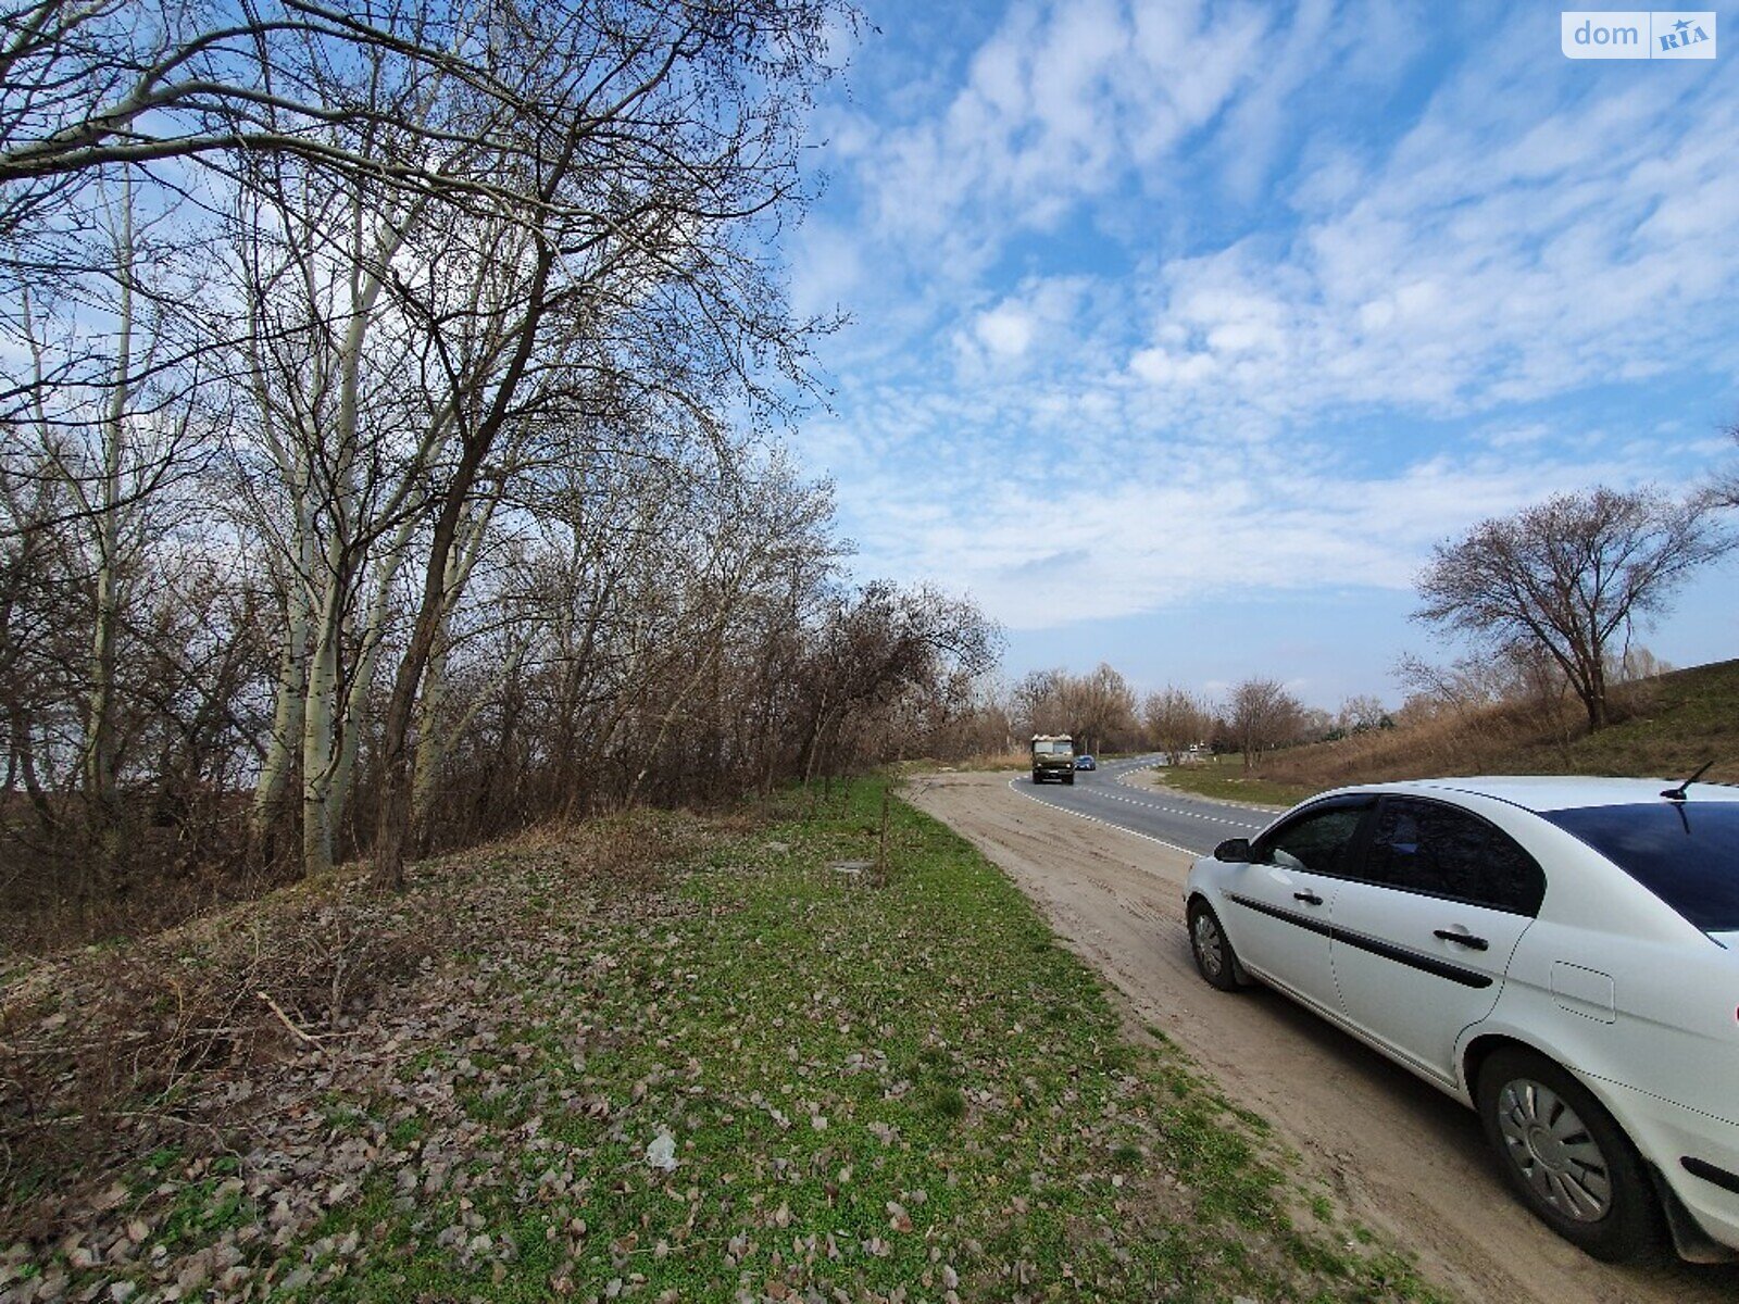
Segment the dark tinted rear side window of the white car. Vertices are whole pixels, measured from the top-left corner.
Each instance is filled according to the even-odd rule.
[[[1469,810],[1391,796],[1377,810],[1363,880],[1537,915],[1546,875],[1515,840]]]

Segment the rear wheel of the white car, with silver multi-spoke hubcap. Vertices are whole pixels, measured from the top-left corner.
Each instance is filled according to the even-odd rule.
[[[1534,1217],[1605,1262],[1661,1248],[1664,1217],[1642,1156],[1567,1069],[1499,1050],[1480,1068],[1475,1102],[1504,1181]]]

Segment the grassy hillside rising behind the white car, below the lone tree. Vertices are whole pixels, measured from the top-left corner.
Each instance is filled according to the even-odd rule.
[[[1160,777],[1176,788],[1250,802],[1297,802],[1325,788],[1443,774],[1616,774],[1683,779],[1713,762],[1711,782],[1739,782],[1739,661],[1624,685],[1616,723],[1589,734],[1581,706],[1506,704],[1449,711],[1407,729],[1292,748],[1256,775],[1221,758]]]

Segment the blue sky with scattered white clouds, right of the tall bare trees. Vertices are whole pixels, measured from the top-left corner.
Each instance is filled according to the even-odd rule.
[[[870,0],[790,243],[864,575],[1007,673],[1398,701],[1433,542],[1739,456],[1739,12],[1569,61],[1558,5]],[[1739,565],[1642,642],[1739,655]]]

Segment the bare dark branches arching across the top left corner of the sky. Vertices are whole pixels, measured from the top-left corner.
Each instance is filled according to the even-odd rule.
[[[649,9],[680,21],[685,7]],[[550,203],[532,181],[537,151],[527,143],[567,129],[572,106],[504,73],[497,56],[513,40],[586,47],[607,10],[565,0],[511,12],[503,24],[499,7],[482,0],[9,3],[0,14],[0,235],[40,235],[68,214],[77,221],[83,184],[106,169],[197,162],[233,176],[268,156],[475,209]],[[696,35],[708,19],[725,26],[723,14],[696,10],[694,19]],[[636,33],[624,24],[621,37],[616,54],[633,63]],[[468,111],[398,111],[433,82],[463,85]],[[609,99],[583,111],[610,116]],[[409,148],[370,148],[383,125]],[[478,146],[529,165],[489,176],[456,165]]]

